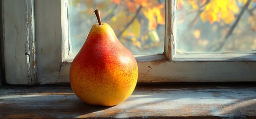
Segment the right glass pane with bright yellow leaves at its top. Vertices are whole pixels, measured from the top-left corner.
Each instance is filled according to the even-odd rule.
[[[255,53],[256,0],[177,0],[178,53]]]

